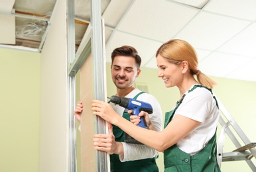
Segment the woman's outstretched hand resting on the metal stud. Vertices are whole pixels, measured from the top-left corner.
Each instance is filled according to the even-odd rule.
[[[92,110],[94,111],[93,114],[100,116],[111,124],[116,124],[118,118],[121,117],[113,110],[109,103],[103,101],[92,100]]]

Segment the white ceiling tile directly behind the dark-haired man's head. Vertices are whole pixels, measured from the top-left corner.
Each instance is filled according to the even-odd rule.
[[[149,60],[155,56],[157,48],[160,47],[162,43],[155,42],[153,40],[141,38],[138,36],[133,36],[124,32],[115,31],[113,32],[109,42],[106,45],[106,60],[111,62],[111,52],[117,47],[128,45],[133,46],[139,56],[141,56],[142,62],[141,67],[147,64]]]

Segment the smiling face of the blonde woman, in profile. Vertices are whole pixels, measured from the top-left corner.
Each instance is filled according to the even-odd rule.
[[[171,64],[162,56],[157,56],[157,66],[159,67],[158,77],[162,77],[165,87],[174,87],[182,82],[182,66]]]

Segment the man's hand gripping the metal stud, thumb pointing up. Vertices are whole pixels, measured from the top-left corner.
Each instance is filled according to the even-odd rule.
[[[123,157],[123,144],[115,142],[113,135],[113,127],[109,123],[109,134],[95,134],[94,135],[94,148],[99,151],[105,151],[109,154],[118,154]]]

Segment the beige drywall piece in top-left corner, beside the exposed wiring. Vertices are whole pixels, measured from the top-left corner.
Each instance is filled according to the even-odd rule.
[[[0,11],[9,13],[13,10],[15,0],[0,0]],[[0,44],[15,44],[15,16],[0,15]]]

